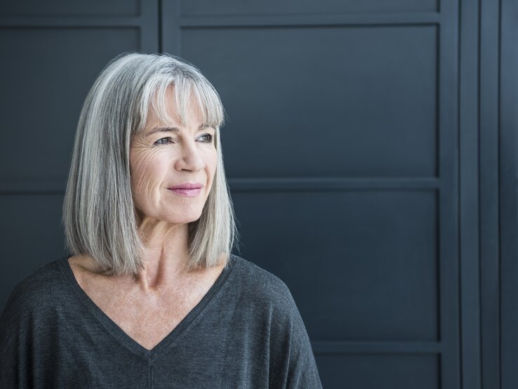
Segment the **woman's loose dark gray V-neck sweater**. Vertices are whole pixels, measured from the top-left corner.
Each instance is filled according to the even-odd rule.
[[[0,316],[0,388],[268,387],[321,383],[286,284],[238,256],[152,350],[88,298],[67,258],[23,279]]]

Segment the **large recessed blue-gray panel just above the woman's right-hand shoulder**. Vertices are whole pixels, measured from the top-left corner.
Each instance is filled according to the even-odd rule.
[[[434,191],[234,192],[241,256],[291,290],[312,341],[434,341]]]

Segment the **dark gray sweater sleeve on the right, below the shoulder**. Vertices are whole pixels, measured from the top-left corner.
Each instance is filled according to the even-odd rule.
[[[288,287],[284,288],[272,317],[270,388],[321,389],[310,338]]]

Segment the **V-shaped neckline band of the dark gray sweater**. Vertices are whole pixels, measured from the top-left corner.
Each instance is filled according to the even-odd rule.
[[[60,265],[60,269],[62,270],[62,275],[67,279],[72,289],[76,292],[79,297],[80,302],[88,308],[88,310],[93,314],[95,319],[102,324],[103,327],[113,336],[114,338],[124,346],[124,348],[133,352],[133,354],[138,355],[144,360],[152,363],[162,352],[165,352],[170,348],[173,343],[180,337],[185,330],[190,327],[190,324],[194,322],[198,317],[200,317],[201,312],[203,312],[206,306],[213,301],[213,298],[218,291],[222,288],[227,280],[228,276],[232,272],[234,268],[234,264],[237,261],[237,256],[230,254],[229,263],[223,268],[223,271],[220,273],[218,278],[215,280],[214,284],[208,289],[205,296],[201,298],[199,303],[190,310],[189,313],[178,323],[178,325],[173,328],[171,332],[169,332],[157,345],[154,346],[151,350],[148,350],[143,345],[135,341],[131,336],[126,334],[126,332],[119,327],[119,325],[114,322],[102,309],[98,307],[97,304],[93,302],[93,300],[86,294],[86,292],[81,288],[79,282],[74,275],[74,272],[68,262],[67,257],[60,258],[58,260],[58,264]]]

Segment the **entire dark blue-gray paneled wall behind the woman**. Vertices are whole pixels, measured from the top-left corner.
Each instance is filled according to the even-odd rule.
[[[239,253],[288,284],[324,388],[514,388],[517,14],[511,0],[2,2],[0,305],[64,255],[98,72],[167,51],[221,95]]]

